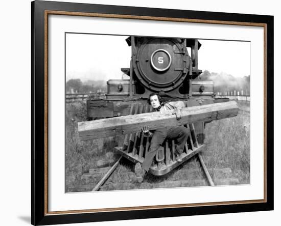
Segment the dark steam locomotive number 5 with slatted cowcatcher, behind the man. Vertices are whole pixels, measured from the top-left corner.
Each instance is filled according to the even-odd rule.
[[[121,68],[129,79],[107,81],[104,99],[87,100],[87,117],[91,120],[142,114],[152,111],[147,99],[159,93],[166,102],[182,100],[186,107],[228,101],[216,98],[213,81],[200,79],[197,39],[135,37],[126,39],[131,47],[130,68]],[[199,153],[204,147],[207,122],[184,125],[190,129],[182,162],[175,160],[176,140],[166,140],[150,168],[154,175],[164,175]],[[133,163],[143,162],[149,150],[149,137],[139,131],[119,137],[116,151]]]

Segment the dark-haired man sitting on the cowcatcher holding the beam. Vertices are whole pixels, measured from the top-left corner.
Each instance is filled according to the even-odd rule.
[[[161,112],[175,109],[177,120],[181,119],[181,109],[185,107],[183,101],[164,103],[162,97],[157,93],[152,93],[149,95],[148,103],[153,107],[153,111]],[[185,142],[190,134],[189,129],[184,126],[164,127],[154,131],[150,131],[149,128],[145,126],[142,129],[142,132],[144,132],[145,136],[152,137],[152,139],[148,153],[146,153],[145,159],[143,161],[143,166],[141,166],[139,162],[135,165],[135,174],[139,182],[143,181],[145,174],[149,171],[157,150],[162,148],[161,145],[166,138],[178,139],[178,143],[175,146],[175,155],[176,160],[181,162],[181,154],[183,152]]]

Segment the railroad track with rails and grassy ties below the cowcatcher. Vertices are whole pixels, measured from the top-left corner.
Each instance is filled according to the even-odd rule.
[[[194,156],[167,175],[147,174],[142,183],[136,180],[133,164],[126,162],[120,164],[121,161],[122,157],[119,157],[111,166],[91,168],[89,173],[82,175],[85,184],[71,190],[108,191],[239,184],[239,180],[233,176],[230,168],[208,171],[202,154]],[[214,181],[211,175],[214,175],[215,171],[225,177]]]

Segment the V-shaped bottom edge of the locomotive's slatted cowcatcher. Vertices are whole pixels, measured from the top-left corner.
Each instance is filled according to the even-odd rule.
[[[176,168],[177,166],[179,166],[180,164],[182,164],[183,162],[185,162],[186,160],[192,158],[193,156],[195,156],[196,154],[198,154],[200,151],[202,151],[203,147],[205,145],[199,145],[198,148],[194,148],[194,150],[188,150],[188,153],[182,153],[181,157],[182,157],[182,161],[181,162],[177,162],[177,161],[171,161],[170,164],[168,165],[162,165],[161,168],[158,167],[157,164],[153,165],[150,167],[150,173],[156,176],[162,176],[165,175],[167,173],[169,173],[170,171],[172,171],[174,168]],[[116,151],[118,151],[121,155],[123,155],[123,157],[127,158],[128,160],[137,163],[140,162],[141,164],[143,163],[144,158],[142,159],[138,159],[138,155],[132,155],[132,153],[127,153],[122,151],[122,147],[115,147]]]

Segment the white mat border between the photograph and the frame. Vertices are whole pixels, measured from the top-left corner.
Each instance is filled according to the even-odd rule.
[[[65,194],[65,32],[251,41],[251,184]],[[49,211],[263,199],[263,35],[263,27],[49,16]]]

